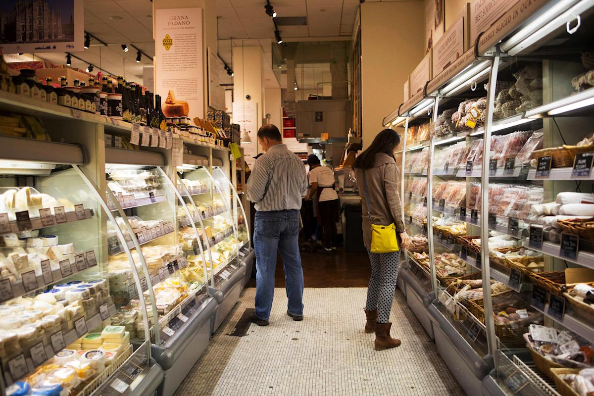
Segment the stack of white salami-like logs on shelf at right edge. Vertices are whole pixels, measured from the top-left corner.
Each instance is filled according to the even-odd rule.
[[[560,192],[554,202],[535,204],[530,208],[530,224],[541,224],[551,242],[561,240],[563,227],[559,220],[590,220],[594,217],[594,194]]]

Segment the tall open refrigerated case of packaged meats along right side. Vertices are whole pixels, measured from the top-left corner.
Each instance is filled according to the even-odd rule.
[[[403,151],[407,229],[432,214],[431,330],[467,394],[594,389],[593,12],[587,1],[513,5],[426,84],[427,163],[414,141]],[[396,114],[384,125],[418,122]],[[424,183],[426,208],[410,210]],[[407,296],[417,273],[402,273]]]

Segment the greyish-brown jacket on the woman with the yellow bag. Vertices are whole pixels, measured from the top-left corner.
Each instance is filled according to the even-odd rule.
[[[369,223],[363,172],[362,169],[356,169],[355,177],[363,209],[363,241],[365,247],[369,249],[371,246],[371,224]],[[384,153],[375,154],[374,167],[365,170],[365,178],[369,194],[369,213],[371,213],[373,223],[382,226],[394,223],[397,232],[405,231],[399,193],[399,170],[394,157]]]

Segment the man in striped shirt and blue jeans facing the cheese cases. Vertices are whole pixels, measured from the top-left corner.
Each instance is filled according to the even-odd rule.
[[[254,202],[256,253],[255,314],[250,320],[268,325],[274,297],[276,252],[285,264],[287,315],[303,320],[303,270],[299,254],[299,210],[307,190],[305,166],[282,144],[279,128],[263,125],[258,142],[266,152],[258,158],[248,179],[248,199]]]

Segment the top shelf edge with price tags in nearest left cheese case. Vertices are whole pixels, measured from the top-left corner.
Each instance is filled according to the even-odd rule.
[[[8,221],[7,223],[2,224],[1,221],[2,219],[0,218],[0,235],[4,235],[4,234],[10,234],[10,233],[19,233],[21,231],[26,231],[26,230],[40,230],[43,229],[45,227],[52,227],[52,226],[59,226],[60,224],[65,224],[65,223],[72,223],[74,221],[80,221],[80,220],[88,220],[89,218],[93,217],[93,210],[91,209],[84,209],[83,208],[83,204],[80,205],[74,205],[75,207],[75,211],[71,211],[71,212],[63,212],[63,214],[58,214],[58,216],[56,216],[55,214],[51,214],[51,209],[49,208],[43,208],[40,210],[45,210],[47,213],[42,217],[32,217],[30,218],[30,226],[29,226],[29,222],[26,221],[26,218],[29,218],[29,211],[25,210],[25,211],[21,211],[21,212],[16,212],[16,214],[26,214],[24,215],[24,220],[23,221],[17,221],[17,220],[11,220]],[[54,207],[52,208],[54,213],[56,211],[56,209],[58,208],[62,208],[62,210],[64,210],[63,206],[59,206],[59,207]],[[2,216],[2,215],[0,215]],[[8,215],[6,217],[8,219]],[[19,224],[21,223],[21,224]]]

